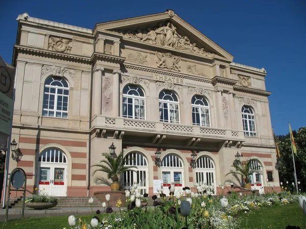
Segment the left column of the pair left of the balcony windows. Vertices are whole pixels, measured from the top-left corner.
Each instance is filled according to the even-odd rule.
[[[94,80],[94,115],[101,115],[101,98],[102,98],[102,72],[104,71],[103,67],[97,67],[95,69],[95,80]]]

